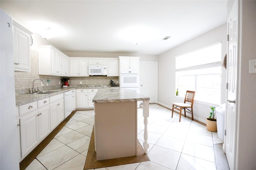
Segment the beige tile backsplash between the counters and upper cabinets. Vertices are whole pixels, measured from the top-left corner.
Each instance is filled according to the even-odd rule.
[[[30,49],[30,59],[31,59],[31,72],[14,72],[15,90],[21,89],[32,89],[33,80],[36,78],[41,78],[44,81],[44,86],[46,86],[47,80],[50,80],[48,86],[59,86],[59,82],[62,85],[62,80],[60,76],[42,76],[38,74],[38,51]],[[70,85],[72,84],[94,84],[94,85],[109,85],[110,80],[115,83],[118,81],[118,77],[107,77],[107,76],[91,76],[91,77],[69,77]],[[34,88],[41,87],[41,81],[36,80],[34,82]]]

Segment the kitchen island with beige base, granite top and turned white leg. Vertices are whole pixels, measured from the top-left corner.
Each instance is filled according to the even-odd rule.
[[[148,153],[149,100],[149,97],[127,89],[98,90],[92,100],[97,160],[137,154],[137,101],[143,101],[143,148],[144,153]]]

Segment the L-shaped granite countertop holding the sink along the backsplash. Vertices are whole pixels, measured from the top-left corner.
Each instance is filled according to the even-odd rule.
[[[41,100],[41,99],[44,99],[44,98],[55,96],[57,94],[61,94],[61,93],[67,92],[69,90],[74,90],[74,89],[91,89],[91,88],[102,89],[102,88],[119,88],[119,87],[81,84],[81,85],[74,85],[74,86],[68,87],[68,88],[52,88],[52,89],[48,89],[48,90],[56,90],[56,91],[58,90],[58,92],[53,92],[53,93],[48,93],[48,94],[24,94],[24,91],[17,94],[17,92],[16,92],[16,95],[15,95],[16,106],[21,106],[21,105],[24,105],[24,104],[35,102],[37,100]]]

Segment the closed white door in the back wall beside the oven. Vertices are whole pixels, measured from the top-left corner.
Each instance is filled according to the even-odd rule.
[[[157,61],[140,61],[140,94],[157,103]]]

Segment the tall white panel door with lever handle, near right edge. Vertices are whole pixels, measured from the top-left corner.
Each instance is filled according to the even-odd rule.
[[[230,169],[235,169],[236,155],[236,91],[237,91],[237,66],[238,66],[238,2],[234,6],[228,18],[228,54],[227,54],[227,104],[226,104],[226,138],[225,152]]]

